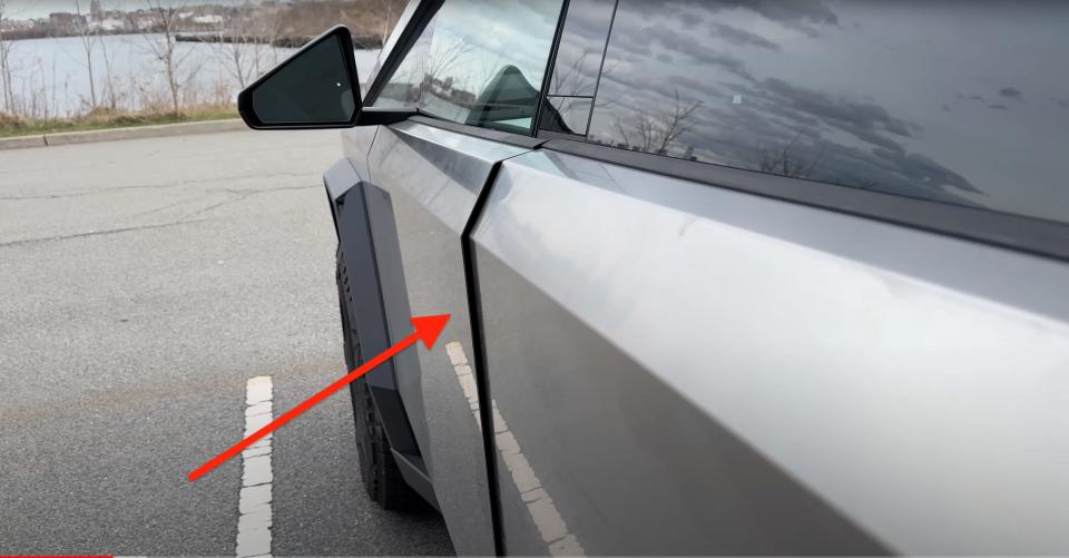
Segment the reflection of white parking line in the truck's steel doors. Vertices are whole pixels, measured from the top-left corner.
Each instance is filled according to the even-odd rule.
[[[468,404],[471,412],[475,415],[475,423],[482,428],[482,420],[479,418],[479,393],[475,391],[475,376],[471,373],[471,365],[468,363],[468,355],[464,354],[464,347],[458,341],[445,344],[445,353],[449,354],[449,361],[453,363],[453,370],[457,372],[457,381],[468,398]],[[549,497],[542,487],[534,469],[527,461],[527,457],[520,451],[520,443],[509,430],[509,425],[501,417],[498,409],[498,402],[490,400],[493,411],[493,435],[497,441],[498,451],[501,452],[501,459],[506,467],[512,473],[512,482],[520,491],[520,498],[527,503],[527,511],[531,519],[538,526],[538,531],[542,540],[549,546],[549,552],[553,556],[585,556],[582,545],[576,539],[575,535],[568,532],[568,525],[565,518],[560,516],[553,499]]]

